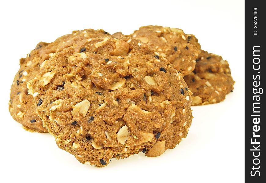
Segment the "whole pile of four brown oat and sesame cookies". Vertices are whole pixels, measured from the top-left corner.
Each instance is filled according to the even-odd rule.
[[[20,59],[9,111],[81,163],[104,167],[174,148],[189,131],[190,106],[221,102],[233,85],[227,61],[181,29],[86,29],[40,42]]]

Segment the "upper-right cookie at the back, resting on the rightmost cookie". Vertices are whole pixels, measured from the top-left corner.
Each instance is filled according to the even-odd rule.
[[[200,44],[194,35],[177,28],[150,25],[140,27],[130,36],[147,43],[158,57],[164,56],[184,76],[194,70],[200,54]]]

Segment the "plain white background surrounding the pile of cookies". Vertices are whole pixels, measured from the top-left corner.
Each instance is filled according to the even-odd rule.
[[[1,1],[0,182],[244,182],[244,1]],[[143,153],[104,168],[79,163],[49,134],[24,131],[8,111],[9,88],[39,41],[72,30],[130,34],[177,27],[228,60],[235,83],[224,102],[193,107],[187,138],[156,158]]]

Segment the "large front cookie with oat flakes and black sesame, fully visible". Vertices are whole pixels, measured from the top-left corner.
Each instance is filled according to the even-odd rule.
[[[133,38],[93,38],[55,53],[28,82],[44,126],[81,163],[160,156],[187,136],[191,91]]]

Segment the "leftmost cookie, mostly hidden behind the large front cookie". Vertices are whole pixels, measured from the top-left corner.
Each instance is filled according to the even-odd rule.
[[[108,34],[104,30],[85,29],[73,31],[72,34],[57,38],[52,43],[40,42],[26,58],[20,59],[20,69],[15,75],[10,89],[9,112],[11,116],[23,125],[26,130],[37,132],[48,132],[42,126],[42,120],[36,113],[36,105],[32,95],[28,95],[26,83],[40,72],[40,65],[49,59],[55,52],[74,45],[77,41],[101,37]]]

